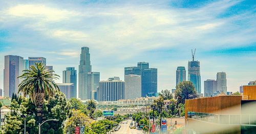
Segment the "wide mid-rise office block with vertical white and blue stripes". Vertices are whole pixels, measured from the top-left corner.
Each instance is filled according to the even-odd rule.
[[[97,90],[98,101],[118,101],[124,99],[124,81],[100,81]]]

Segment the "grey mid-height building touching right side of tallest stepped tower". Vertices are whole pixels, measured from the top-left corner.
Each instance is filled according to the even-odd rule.
[[[87,94],[88,99],[93,99],[94,94],[93,91],[97,91],[97,87],[99,87],[99,79],[100,79],[100,73],[99,72],[88,72],[88,90]]]

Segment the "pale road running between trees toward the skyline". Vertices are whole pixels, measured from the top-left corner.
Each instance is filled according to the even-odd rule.
[[[142,134],[142,130],[131,129],[130,126],[131,120],[127,124],[121,124],[121,128],[118,131],[115,131],[114,134]]]

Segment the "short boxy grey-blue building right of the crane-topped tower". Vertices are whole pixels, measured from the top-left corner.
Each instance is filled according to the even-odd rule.
[[[217,80],[204,81],[204,97],[214,96],[215,92],[217,92]]]

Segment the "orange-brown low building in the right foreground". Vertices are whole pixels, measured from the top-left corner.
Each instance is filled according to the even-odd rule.
[[[256,132],[256,85],[243,95],[185,100],[185,126],[198,133]]]

